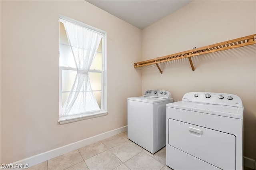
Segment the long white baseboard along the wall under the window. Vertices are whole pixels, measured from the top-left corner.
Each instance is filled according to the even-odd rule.
[[[29,158],[18,160],[16,162],[10,163],[9,165],[24,165],[24,166],[28,165],[30,167],[30,166],[39,164],[41,162],[44,162],[46,160],[55,158],[56,156],[60,156],[62,154],[66,154],[66,153],[71,152],[73,150],[82,148],[82,147],[84,147],[86,145],[98,142],[100,140],[109,138],[111,136],[114,136],[116,134],[119,134],[119,133],[122,133],[122,132],[125,132],[125,131],[127,131],[127,126],[120,127],[120,128],[114,129],[114,130],[110,130],[108,132],[104,132],[102,134],[98,134],[96,136],[92,136],[90,138],[86,138],[86,139],[83,139],[83,140],[80,140],[80,141],[68,144],[66,146],[62,146],[60,148],[49,150],[47,152],[44,152],[44,153],[41,153],[41,154],[37,154],[37,155],[31,156]],[[15,168],[15,170],[18,170],[18,168]]]

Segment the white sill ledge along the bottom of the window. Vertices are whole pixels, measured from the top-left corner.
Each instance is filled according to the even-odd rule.
[[[67,124],[67,123],[72,123],[72,122],[77,122],[77,121],[82,121],[85,119],[92,119],[95,117],[101,117],[101,116],[106,116],[108,114],[107,111],[100,111],[97,113],[84,113],[84,114],[79,114],[79,115],[71,115],[67,117],[62,117],[58,122],[60,125]]]

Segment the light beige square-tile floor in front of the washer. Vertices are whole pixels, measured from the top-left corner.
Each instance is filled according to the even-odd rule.
[[[127,132],[31,166],[29,170],[172,170],[166,147],[155,154],[128,140]]]

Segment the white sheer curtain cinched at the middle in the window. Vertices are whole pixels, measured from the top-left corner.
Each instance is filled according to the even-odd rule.
[[[91,90],[88,70],[102,35],[66,20],[60,22],[65,26],[77,69],[74,84],[62,107],[60,117],[98,110],[100,108]]]

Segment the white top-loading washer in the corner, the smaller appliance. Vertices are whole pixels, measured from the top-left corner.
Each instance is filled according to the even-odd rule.
[[[168,91],[148,90],[144,96],[127,99],[128,139],[152,154],[166,145],[166,104]]]

